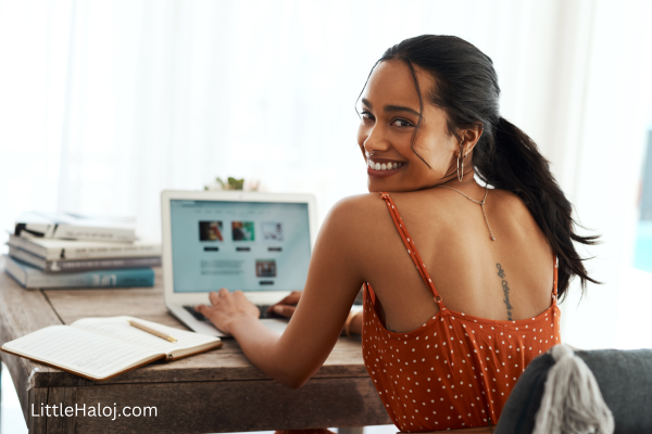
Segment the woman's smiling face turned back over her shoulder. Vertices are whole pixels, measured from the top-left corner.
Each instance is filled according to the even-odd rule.
[[[426,94],[435,80],[418,68],[415,71],[419,88]],[[426,98],[412,150],[419,104],[405,63],[379,63],[364,89],[361,104],[358,144],[367,162],[369,192],[421,190],[441,183],[444,176],[454,173],[459,142],[448,133],[446,112],[428,103]]]

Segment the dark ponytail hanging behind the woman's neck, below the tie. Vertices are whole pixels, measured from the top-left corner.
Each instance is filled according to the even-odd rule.
[[[474,166],[478,177],[497,189],[511,191],[527,206],[530,214],[557,255],[557,294],[564,297],[573,276],[599,283],[587,275],[573,241],[595,244],[598,235],[581,237],[575,232],[573,207],[550,171],[549,162],[537,144],[518,127],[500,117],[493,140],[486,140],[474,150]]]

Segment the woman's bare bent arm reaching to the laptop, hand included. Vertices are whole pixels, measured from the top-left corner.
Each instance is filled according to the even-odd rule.
[[[322,367],[363,283],[359,245],[364,221],[355,202],[341,201],[324,221],[301,301],[283,335],[260,322],[242,292],[222,289],[211,293],[213,306],[198,306],[238,341],[253,365],[290,387],[302,386]]]

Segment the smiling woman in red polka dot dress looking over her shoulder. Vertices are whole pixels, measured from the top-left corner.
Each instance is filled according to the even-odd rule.
[[[569,202],[531,139],[500,117],[499,93],[491,60],[460,38],[387,50],[361,93],[369,194],[325,219],[286,332],[263,327],[239,292],[198,310],[300,387],[364,284],[363,356],[396,425],[496,424],[525,367],[560,342],[568,280],[593,281],[573,241],[594,240],[574,232]]]

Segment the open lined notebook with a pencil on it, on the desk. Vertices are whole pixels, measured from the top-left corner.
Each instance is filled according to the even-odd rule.
[[[138,321],[177,342],[129,326]],[[102,381],[165,358],[175,360],[222,346],[220,337],[187,332],[134,317],[85,318],[51,326],[2,345],[5,353]]]

